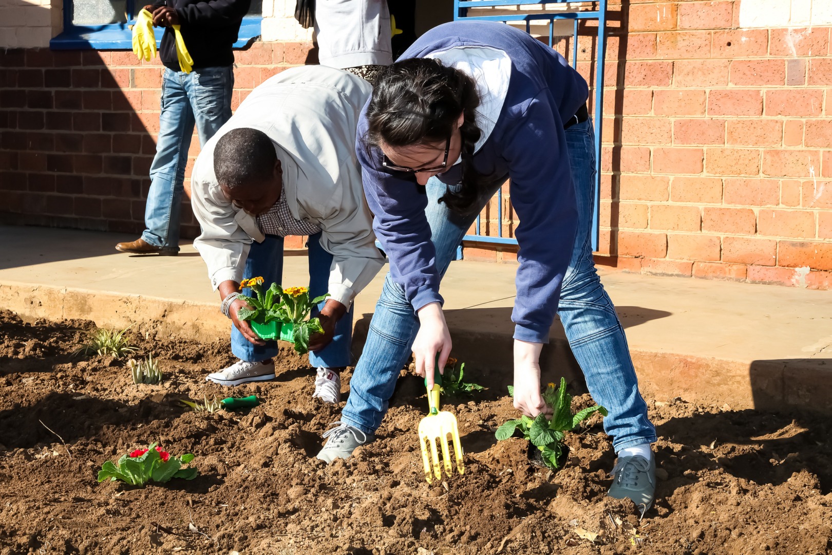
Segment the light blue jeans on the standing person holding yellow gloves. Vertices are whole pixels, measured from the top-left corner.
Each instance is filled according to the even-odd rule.
[[[165,68],[156,156],[151,164],[145,225],[141,238],[151,245],[179,250],[180,206],[191,136],[200,146],[231,116],[233,67],[205,67],[191,73]]]

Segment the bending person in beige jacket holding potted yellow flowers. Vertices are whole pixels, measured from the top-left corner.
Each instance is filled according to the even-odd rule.
[[[324,328],[310,340],[314,396],[339,402],[352,303],[384,264],[354,152],[370,92],[339,69],[288,69],[255,88],[197,158],[191,206],[202,233],[194,246],[234,323],[231,350],[240,359],[207,379],[237,385],[275,377],[277,344],[237,317],[245,303],[236,295],[243,278],[282,284],[283,238],[308,235],[310,298],[329,293],[313,313]]]

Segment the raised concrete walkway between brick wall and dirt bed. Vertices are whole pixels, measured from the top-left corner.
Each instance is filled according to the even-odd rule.
[[[23,318],[140,322],[204,341],[228,334],[219,295],[192,245],[177,257],[118,253],[132,235],[0,226],[0,306]],[[454,356],[483,384],[512,375],[516,265],[461,260],[442,284]],[[356,300],[360,351],[386,268]],[[307,283],[304,251],[289,251],[285,285]],[[832,411],[832,292],[602,272],[626,328],[641,387],[656,399],[732,409],[807,405]],[[579,380],[562,327],[552,326],[544,379]]]

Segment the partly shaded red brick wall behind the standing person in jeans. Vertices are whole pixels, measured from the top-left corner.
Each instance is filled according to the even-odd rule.
[[[235,52],[232,108],[310,43]],[[133,52],[0,51],[0,221],[141,233],[159,131],[162,67]],[[186,187],[199,153],[191,141]],[[182,237],[199,234],[187,199]],[[287,243],[300,246],[300,240]]]

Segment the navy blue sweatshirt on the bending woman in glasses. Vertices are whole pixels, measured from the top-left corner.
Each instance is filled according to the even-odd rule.
[[[547,343],[577,230],[563,122],[587,102],[587,82],[552,48],[498,22],[451,22],[434,27],[399,59],[461,46],[498,48],[512,62],[503,110],[473,163],[484,176],[508,174],[511,179],[511,200],[520,220],[514,338]],[[389,256],[392,277],[404,288],[414,310],[434,301],[441,303],[424,188],[413,176],[384,168],[380,149],[367,151],[361,140],[367,126],[365,106],[356,153],[375,216],[373,227]],[[458,183],[461,167],[453,166],[437,177],[444,183]]]

